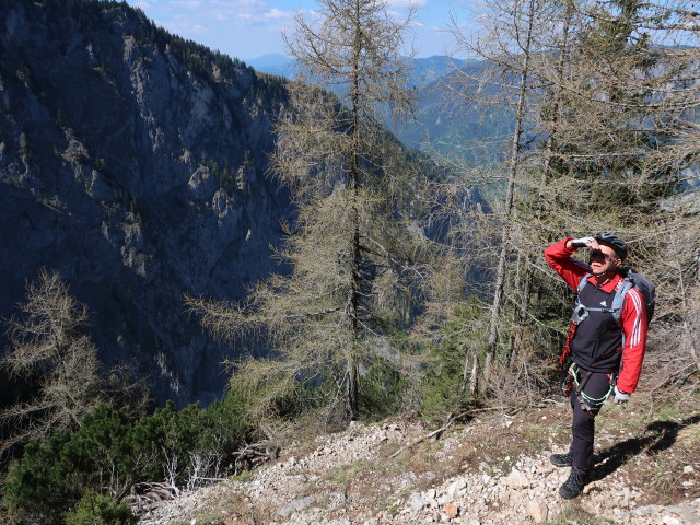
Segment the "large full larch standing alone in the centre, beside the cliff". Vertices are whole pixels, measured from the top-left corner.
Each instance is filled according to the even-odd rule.
[[[258,283],[244,304],[190,299],[219,336],[262,336],[262,355],[237,363],[232,378],[258,418],[293,406],[358,419],[363,382],[396,355],[389,337],[410,323],[421,277],[419,235],[406,222],[412,168],[381,126],[387,110],[411,107],[411,14],[396,20],[383,0],[318,3],[285,35],[298,74],[272,159],[299,210],[279,253],[291,271]]]

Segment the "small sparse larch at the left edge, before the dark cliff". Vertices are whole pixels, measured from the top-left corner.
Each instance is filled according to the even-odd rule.
[[[56,272],[42,270],[27,285],[20,314],[8,322],[11,346],[0,360],[10,377],[35,385],[32,399],[0,412],[9,427],[0,453],[52,432],[74,430],[105,400],[97,349],[88,335],[88,307]]]

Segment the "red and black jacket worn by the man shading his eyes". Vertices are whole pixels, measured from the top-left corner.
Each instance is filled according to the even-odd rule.
[[[576,248],[567,248],[570,238],[545,249],[545,259],[569,287],[579,290],[581,278],[591,269],[571,257]],[[605,285],[597,287],[595,278],[590,277],[579,294],[579,300],[584,306],[608,307],[612,304],[615,291],[623,282],[622,277],[616,275]],[[583,369],[594,372],[619,371],[618,388],[631,394],[637,388],[646,350],[646,308],[639,290],[632,288],[625,296],[620,322],[621,326],[609,312],[590,312],[576,327],[571,340],[571,359]]]

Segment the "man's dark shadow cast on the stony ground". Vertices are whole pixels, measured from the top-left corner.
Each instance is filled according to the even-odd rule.
[[[700,413],[681,421],[654,421],[649,423],[644,431],[645,435],[642,438],[622,441],[603,450],[600,454],[596,454],[596,466],[593,468],[591,481],[598,481],[609,476],[642,452],[655,454],[670,448],[678,438],[678,432],[697,422],[700,422]]]

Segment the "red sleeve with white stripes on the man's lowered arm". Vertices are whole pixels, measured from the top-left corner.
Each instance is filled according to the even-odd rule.
[[[617,380],[617,387],[631,394],[637,388],[646,351],[646,304],[642,293],[634,288],[625,296],[622,330],[625,331],[625,348],[622,349],[622,370]]]

